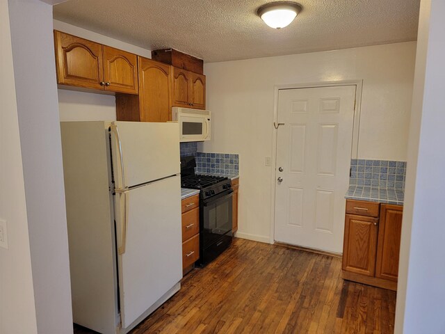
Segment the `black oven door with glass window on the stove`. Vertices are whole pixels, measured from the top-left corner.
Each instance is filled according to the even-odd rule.
[[[223,234],[232,231],[233,190],[208,198],[202,205],[202,247],[207,248],[218,241]]]

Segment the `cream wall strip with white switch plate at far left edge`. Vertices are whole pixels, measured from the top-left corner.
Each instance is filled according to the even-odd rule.
[[[37,333],[28,220],[15,100],[8,1],[0,1],[0,219],[8,244],[0,248],[0,333]]]

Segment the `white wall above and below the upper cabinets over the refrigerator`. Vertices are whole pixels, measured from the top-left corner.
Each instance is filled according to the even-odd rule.
[[[54,29],[92,40],[103,45],[152,58],[152,51],[115,40],[99,33],[54,20]],[[116,120],[116,103],[113,95],[84,93],[73,90],[58,90],[60,121],[70,120]]]

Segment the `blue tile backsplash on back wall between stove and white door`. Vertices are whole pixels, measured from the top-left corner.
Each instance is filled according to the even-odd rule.
[[[196,173],[238,175],[238,154],[196,152]]]

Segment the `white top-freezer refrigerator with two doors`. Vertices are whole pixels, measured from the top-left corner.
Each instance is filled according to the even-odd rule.
[[[74,323],[127,333],[180,288],[178,125],[60,129]]]

